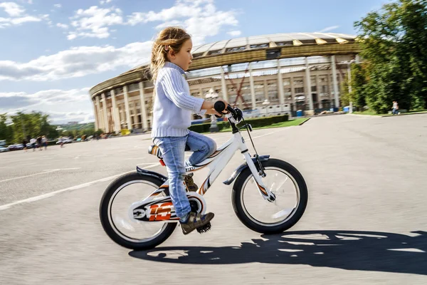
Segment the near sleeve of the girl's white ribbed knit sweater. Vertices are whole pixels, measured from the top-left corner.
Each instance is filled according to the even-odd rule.
[[[167,98],[172,100],[176,106],[184,110],[191,110],[194,113],[201,113],[201,105],[204,103],[204,99],[193,97],[186,92],[184,78],[179,71],[164,68],[160,84],[162,84]]]

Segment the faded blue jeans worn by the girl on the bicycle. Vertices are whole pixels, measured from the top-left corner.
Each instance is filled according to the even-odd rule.
[[[154,144],[162,151],[164,164],[169,175],[169,194],[174,203],[176,217],[186,217],[191,211],[189,199],[186,197],[184,186],[185,167],[196,165],[216,151],[216,142],[199,133],[190,131],[185,137],[154,138]],[[185,160],[186,145],[193,152]]]

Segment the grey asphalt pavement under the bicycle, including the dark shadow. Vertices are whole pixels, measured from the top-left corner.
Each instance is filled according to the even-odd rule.
[[[176,228],[147,252],[112,242],[98,207],[137,165],[166,174],[149,135],[0,153],[0,284],[427,284],[427,115],[336,115],[252,135],[260,155],[305,177],[300,222],[273,236],[241,224],[221,184],[236,153],[205,196],[211,231]],[[221,145],[231,133],[210,136]]]

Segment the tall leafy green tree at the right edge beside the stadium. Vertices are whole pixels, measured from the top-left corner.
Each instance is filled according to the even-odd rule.
[[[367,14],[354,26],[365,61],[352,83],[357,104],[377,113],[427,108],[427,0],[399,0]],[[360,102],[359,102],[360,99]]]

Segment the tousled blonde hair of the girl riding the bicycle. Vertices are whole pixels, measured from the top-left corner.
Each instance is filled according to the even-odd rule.
[[[169,52],[169,49],[178,53],[184,42],[190,38],[191,36],[184,30],[184,28],[173,26],[164,28],[159,33],[153,43],[151,64],[149,67],[150,73],[152,74],[152,81],[156,81],[159,69],[168,61],[167,53]]]

